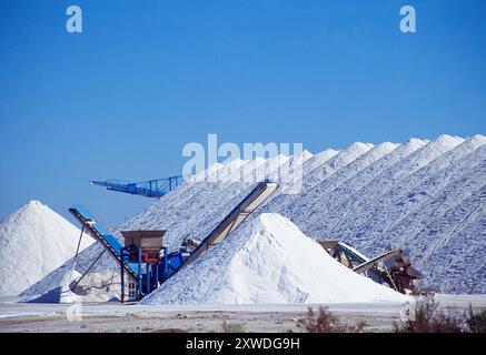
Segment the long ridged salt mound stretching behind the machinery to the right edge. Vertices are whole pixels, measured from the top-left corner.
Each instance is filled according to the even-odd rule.
[[[282,161],[275,156],[271,163],[257,159],[215,164],[119,230],[167,230],[166,246],[178,250],[188,236],[208,235],[255,187],[245,179],[235,182],[235,176],[261,176],[267,165]],[[279,213],[311,239],[344,241],[369,256],[407,248],[424,275],[421,285],[433,291],[486,292],[485,135],[410,139],[398,145],[355,143],[341,151],[302,153],[288,161],[300,164],[302,178],[294,185],[279,181],[280,187],[257,213]],[[288,194],[296,185],[301,191]],[[101,252],[98,243],[83,251],[76,270],[83,273]],[[218,258],[221,251],[211,253]],[[225,261],[229,262],[216,261],[219,268],[227,267]],[[46,294],[53,285],[62,285],[70,270],[71,262],[65,263],[24,295]],[[112,277],[118,270],[106,253],[92,271]]]

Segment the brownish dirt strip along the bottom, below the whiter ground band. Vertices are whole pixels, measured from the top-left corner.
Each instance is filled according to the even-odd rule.
[[[69,321],[66,314],[14,316],[0,320],[0,332],[302,332],[297,320],[302,312],[167,312],[165,314],[88,315]],[[391,327],[396,316],[373,316],[347,313],[346,322],[365,321],[367,331]],[[226,321],[226,326],[224,325]]]

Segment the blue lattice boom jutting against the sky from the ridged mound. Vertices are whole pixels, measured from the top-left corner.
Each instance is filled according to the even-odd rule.
[[[103,186],[110,191],[125,192],[132,195],[159,199],[182,183],[182,176],[170,176],[142,182],[125,182],[120,180],[90,181],[92,185]]]

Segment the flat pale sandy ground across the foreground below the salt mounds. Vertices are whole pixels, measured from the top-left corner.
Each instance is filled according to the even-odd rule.
[[[486,308],[486,296],[439,297],[443,307]],[[317,308],[319,305],[314,305]],[[327,305],[343,323],[366,322],[366,332],[388,332],[400,321],[399,304]],[[142,306],[118,303],[27,304],[0,302],[0,332],[302,332],[308,305]],[[228,329],[228,328],[226,328]]]

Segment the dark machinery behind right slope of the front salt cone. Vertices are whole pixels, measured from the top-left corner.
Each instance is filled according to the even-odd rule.
[[[387,284],[400,293],[420,293],[418,280],[421,275],[400,248],[368,258],[343,242],[320,241],[319,244],[339,263],[358,274],[379,284]]]

